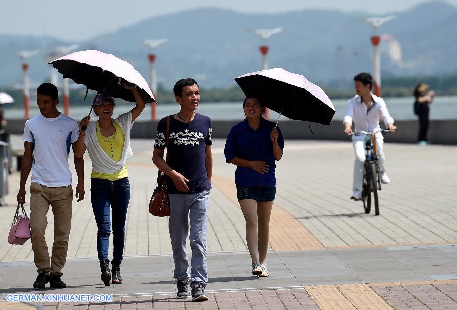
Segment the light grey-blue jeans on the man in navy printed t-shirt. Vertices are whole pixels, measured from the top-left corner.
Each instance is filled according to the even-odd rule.
[[[208,227],[209,190],[194,194],[169,194],[170,219],[168,231],[175,262],[174,275],[177,280],[189,277],[186,239],[189,234],[192,249],[192,266],[190,270],[190,287],[199,284],[206,287],[208,272],[206,270],[206,232]]]

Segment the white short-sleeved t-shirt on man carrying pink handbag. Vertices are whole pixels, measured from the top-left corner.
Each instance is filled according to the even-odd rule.
[[[23,140],[34,144],[32,182],[48,187],[72,183],[68,154],[78,130],[78,123],[63,113],[56,118],[39,114],[25,122]]]

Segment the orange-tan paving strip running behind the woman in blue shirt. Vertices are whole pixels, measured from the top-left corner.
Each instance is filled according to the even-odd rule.
[[[231,178],[213,175],[215,185],[234,204],[238,204],[235,182]],[[273,204],[270,218],[270,246],[275,251],[301,251],[323,249],[320,243],[289,212]]]

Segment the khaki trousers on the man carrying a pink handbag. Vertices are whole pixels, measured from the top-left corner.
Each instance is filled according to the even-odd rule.
[[[72,185],[47,187],[38,183],[30,186],[30,228],[34,261],[37,272],[62,275],[67,260],[68,239],[72,220]],[[49,258],[45,229],[49,205],[54,214],[54,243]]]

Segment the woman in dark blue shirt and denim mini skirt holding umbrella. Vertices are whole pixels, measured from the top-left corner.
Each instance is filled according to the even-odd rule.
[[[270,214],[276,194],[275,161],[282,157],[284,139],[275,123],[262,117],[265,107],[257,98],[246,98],[243,109],[246,119],[228,133],[225,159],[237,166],[235,184],[246,220],[252,274],[269,276],[266,258]]]

